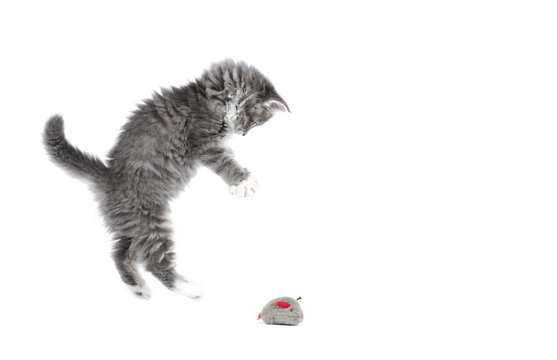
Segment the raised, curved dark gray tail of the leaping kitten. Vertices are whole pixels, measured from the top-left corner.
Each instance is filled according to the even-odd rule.
[[[99,158],[84,153],[66,140],[64,120],[60,115],[53,115],[46,122],[43,142],[52,161],[74,175],[97,182],[108,170]]]

